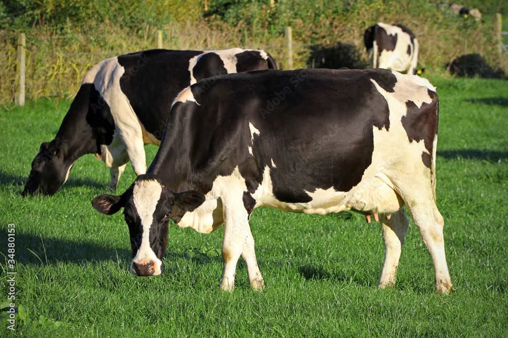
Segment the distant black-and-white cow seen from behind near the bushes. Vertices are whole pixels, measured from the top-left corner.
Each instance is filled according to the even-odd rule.
[[[406,27],[378,22],[365,30],[363,41],[371,68],[417,73],[418,39]]]

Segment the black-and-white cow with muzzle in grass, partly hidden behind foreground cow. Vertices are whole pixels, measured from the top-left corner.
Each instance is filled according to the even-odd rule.
[[[199,80],[276,68],[262,50],[148,50],[103,60],[85,75],[55,139],[41,144],[22,192],[53,195],[85,154],[110,167],[109,188],[131,161],[146,171],[144,144],[159,145],[175,96]]]

